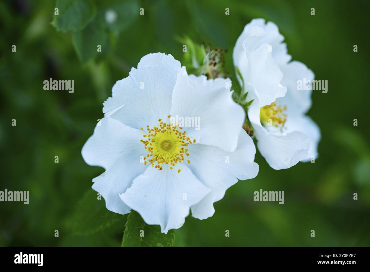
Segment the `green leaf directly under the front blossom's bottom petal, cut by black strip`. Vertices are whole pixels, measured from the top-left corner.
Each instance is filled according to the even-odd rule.
[[[173,229],[163,234],[160,226],[145,224],[141,216],[131,210],[127,218],[122,246],[174,246],[174,244],[175,231]]]

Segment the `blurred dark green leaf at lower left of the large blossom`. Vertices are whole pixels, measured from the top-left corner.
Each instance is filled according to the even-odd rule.
[[[71,218],[74,235],[92,235],[114,224],[125,224],[127,215],[109,211],[105,207],[104,199],[98,199],[97,194],[93,189],[88,189],[78,201]]]

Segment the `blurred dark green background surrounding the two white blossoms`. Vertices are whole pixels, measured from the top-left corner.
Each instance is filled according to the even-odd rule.
[[[104,169],[81,157],[113,84],[145,54],[164,52],[182,61],[175,37],[184,35],[228,49],[225,68],[236,81],[233,46],[245,24],[259,17],[279,26],[293,60],[328,80],[328,93],[314,91],[309,111],[322,132],[320,156],[314,164],[276,171],[257,152],[258,176],[231,187],[211,218],[186,218],[175,231],[176,245],[370,245],[369,1],[128,0],[85,6],[85,17],[77,23],[78,16],[72,17],[63,32],[51,24],[54,1],[0,2],[0,191],[30,191],[28,205],[0,202],[1,246],[119,246],[127,215],[107,211],[104,199],[97,200],[91,180]],[[109,10],[117,15],[114,24],[105,20]],[[68,23],[78,27],[68,29]],[[50,77],[74,80],[74,93],[43,90]],[[285,191],[285,204],[254,202],[260,188]]]

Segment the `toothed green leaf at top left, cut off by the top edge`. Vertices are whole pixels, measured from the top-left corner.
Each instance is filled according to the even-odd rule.
[[[58,31],[78,31],[94,18],[96,14],[95,4],[90,0],[57,0],[54,13],[53,26]]]

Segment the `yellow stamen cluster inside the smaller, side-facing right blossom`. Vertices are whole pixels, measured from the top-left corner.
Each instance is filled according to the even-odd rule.
[[[275,102],[260,109],[260,120],[265,126],[274,126],[283,131],[287,115],[283,113],[286,111],[286,105],[277,106]]]

